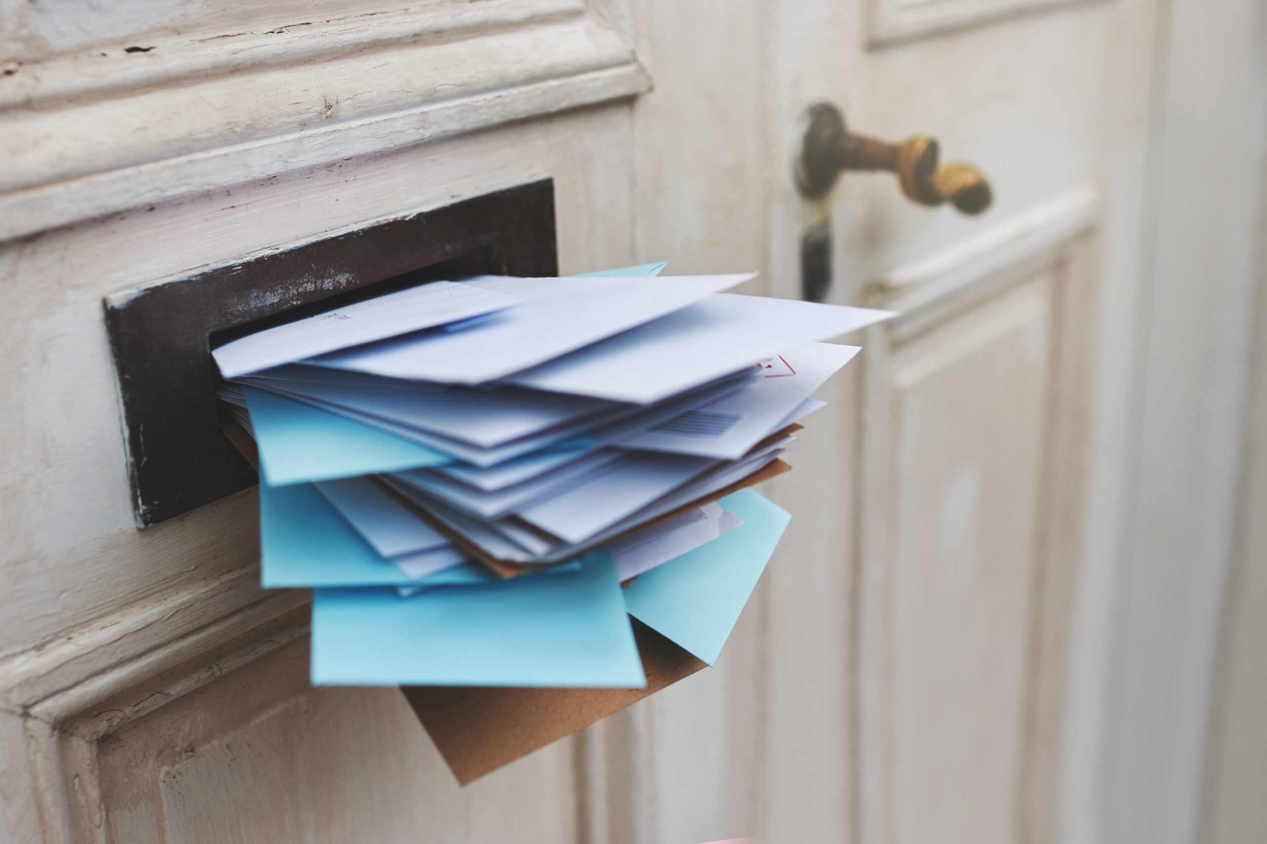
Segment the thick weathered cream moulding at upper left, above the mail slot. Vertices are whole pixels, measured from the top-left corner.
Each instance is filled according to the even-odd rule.
[[[651,85],[582,0],[445,0],[11,70],[0,241]]]

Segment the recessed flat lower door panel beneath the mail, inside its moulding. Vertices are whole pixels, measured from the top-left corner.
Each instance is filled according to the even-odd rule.
[[[566,743],[459,788],[397,689],[309,688],[304,639],[127,722],[96,754],[115,841],[575,834]]]

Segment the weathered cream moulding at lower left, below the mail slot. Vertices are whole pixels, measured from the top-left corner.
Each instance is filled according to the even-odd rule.
[[[100,741],[307,634],[308,596],[261,598],[257,578],[245,566],[0,663],[4,754],[25,760],[0,774],[27,781],[46,841],[100,836]]]

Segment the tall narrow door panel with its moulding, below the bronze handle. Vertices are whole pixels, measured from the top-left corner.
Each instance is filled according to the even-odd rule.
[[[1096,212],[1073,191],[877,285],[902,316],[867,343],[860,840],[1060,838]]]

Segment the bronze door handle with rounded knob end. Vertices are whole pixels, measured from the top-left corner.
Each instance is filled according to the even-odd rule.
[[[955,161],[939,167],[940,146],[926,134],[889,143],[851,133],[836,106],[820,103],[805,118],[796,161],[801,194],[825,196],[844,170],[886,170],[897,174],[902,193],[921,205],[950,203],[964,214],[979,214],[993,194],[979,170]]]

